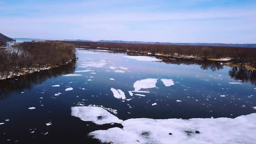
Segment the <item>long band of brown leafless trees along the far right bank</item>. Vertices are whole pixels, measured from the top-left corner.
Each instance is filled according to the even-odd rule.
[[[169,56],[195,56],[202,59],[231,57],[241,66],[249,65],[256,68],[256,48],[222,47],[222,46],[192,46],[192,45],[153,45],[153,44],[120,44],[100,42],[66,41],[77,47],[90,46],[110,49],[124,49],[152,54],[168,54]]]

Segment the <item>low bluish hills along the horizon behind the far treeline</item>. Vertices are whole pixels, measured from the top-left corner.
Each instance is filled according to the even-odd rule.
[[[81,39],[64,39],[64,41],[78,42],[101,42],[101,43],[121,43],[121,44],[155,44],[155,45],[194,45],[194,46],[228,46],[228,47],[249,47],[256,48],[256,44],[223,44],[223,43],[161,43],[161,42],[141,42],[141,41],[120,41],[120,40],[81,40]]]

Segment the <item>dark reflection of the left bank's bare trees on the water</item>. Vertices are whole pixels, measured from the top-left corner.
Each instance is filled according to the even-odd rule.
[[[42,83],[47,79],[73,73],[75,67],[76,63],[69,63],[49,70],[0,81],[0,99],[7,99],[12,92],[20,93],[24,89],[32,89],[35,84]]]

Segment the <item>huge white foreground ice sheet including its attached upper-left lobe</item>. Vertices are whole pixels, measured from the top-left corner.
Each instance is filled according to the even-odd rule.
[[[113,144],[254,144],[256,113],[236,118],[150,119],[125,121],[103,108],[73,107],[72,116],[96,124],[120,123],[89,133],[102,143]]]

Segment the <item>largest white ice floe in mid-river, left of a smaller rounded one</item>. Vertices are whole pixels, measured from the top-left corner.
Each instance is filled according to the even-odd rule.
[[[139,91],[140,89],[149,89],[149,88],[155,88],[155,83],[157,79],[144,79],[140,81],[136,81],[133,84],[134,91]]]

